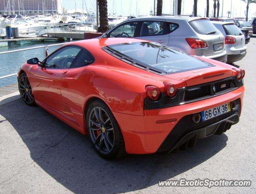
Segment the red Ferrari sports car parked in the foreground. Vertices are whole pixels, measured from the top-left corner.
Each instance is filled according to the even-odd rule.
[[[70,42],[18,72],[19,91],[103,158],[167,153],[239,121],[244,70],[138,39]]]

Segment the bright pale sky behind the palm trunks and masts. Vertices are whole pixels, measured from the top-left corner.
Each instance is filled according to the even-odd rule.
[[[163,0],[163,13],[172,13],[174,0]],[[227,16],[227,11],[230,11],[232,1],[232,13],[234,17],[243,17],[245,15],[246,4],[241,0],[220,0],[220,13],[222,12],[222,2],[224,1],[223,16]],[[62,0],[62,6],[69,9],[82,9],[82,2],[85,3],[87,11],[94,12],[96,8],[96,0]],[[157,0],[156,0],[157,2]],[[193,0],[183,0],[181,13],[184,15],[192,14]],[[213,11],[213,0],[209,0],[209,13]],[[184,7],[184,8],[183,8]],[[206,0],[198,0],[198,14],[205,15]],[[108,0],[108,13],[117,13],[118,15],[148,15],[150,10],[154,9],[154,0]],[[256,17],[256,4],[251,4],[249,9],[250,17]],[[233,17],[233,14],[232,14]]]

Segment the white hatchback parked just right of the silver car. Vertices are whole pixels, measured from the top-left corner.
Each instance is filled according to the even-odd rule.
[[[245,36],[231,22],[212,21],[213,25],[225,36],[225,49],[228,53],[227,63],[234,63],[246,55]]]

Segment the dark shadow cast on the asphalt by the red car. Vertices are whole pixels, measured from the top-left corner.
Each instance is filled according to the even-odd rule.
[[[29,107],[19,99],[0,106],[0,114],[17,131],[34,162],[74,193],[122,193],[147,188],[205,162],[228,140],[224,134],[213,135],[176,154],[127,155],[109,161],[96,154],[87,136],[38,106]]]

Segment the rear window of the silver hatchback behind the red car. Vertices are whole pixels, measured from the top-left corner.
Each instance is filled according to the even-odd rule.
[[[207,19],[198,19],[189,22],[189,24],[198,34],[220,34],[217,28]]]

